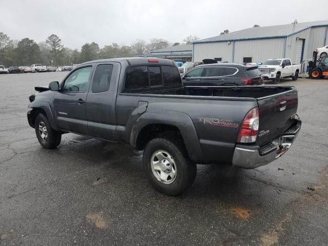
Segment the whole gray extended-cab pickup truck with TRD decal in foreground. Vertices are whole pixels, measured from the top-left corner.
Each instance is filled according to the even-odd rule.
[[[30,96],[44,148],[76,133],[144,150],[153,187],[179,195],[196,164],[254,169],[287,151],[300,127],[293,86],[183,87],[173,61],[115,58],[74,68]]]

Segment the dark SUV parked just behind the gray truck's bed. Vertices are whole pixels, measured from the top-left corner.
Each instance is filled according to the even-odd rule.
[[[257,86],[263,77],[257,66],[217,63],[200,65],[182,76],[184,86]]]

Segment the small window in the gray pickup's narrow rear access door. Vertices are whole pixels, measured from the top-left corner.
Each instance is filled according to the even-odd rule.
[[[92,81],[93,93],[108,91],[112,72],[113,65],[111,64],[101,64],[97,66]]]

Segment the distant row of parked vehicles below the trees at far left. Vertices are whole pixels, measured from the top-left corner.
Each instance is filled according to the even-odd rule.
[[[21,67],[9,67],[5,68],[4,66],[0,66],[0,74],[6,73],[40,73],[40,72],[60,72],[60,71],[71,71],[73,67],[71,66],[64,66],[61,68],[56,67],[47,67],[43,66],[42,64],[32,64],[30,67],[28,66],[21,66]]]

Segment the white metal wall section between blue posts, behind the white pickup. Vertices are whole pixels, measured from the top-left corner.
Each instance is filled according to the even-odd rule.
[[[242,63],[243,57],[252,57],[253,63],[263,63],[270,58],[283,56],[284,38],[235,41],[234,62]]]

